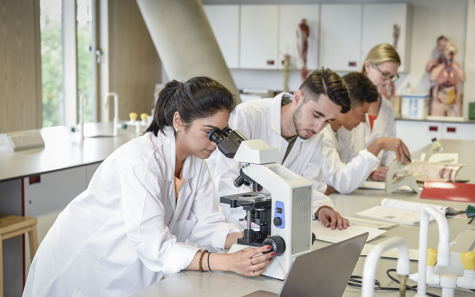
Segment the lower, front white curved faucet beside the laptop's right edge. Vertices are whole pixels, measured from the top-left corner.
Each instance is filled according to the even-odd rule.
[[[396,266],[396,271],[401,276],[409,275],[409,249],[406,240],[401,237],[391,237],[387,240],[381,241],[375,245],[363,266],[363,281],[361,285],[361,296],[372,297],[374,292],[374,278],[376,274],[376,266],[383,252],[388,249],[398,248],[399,259]],[[405,282],[401,282],[405,286]],[[405,287],[403,288],[405,290]]]

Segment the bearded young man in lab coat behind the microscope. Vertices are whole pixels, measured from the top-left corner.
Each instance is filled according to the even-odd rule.
[[[333,210],[332,201],[323,194],[326,189],[321,173],[324,156],[322,135],[318,133],[350,107],[348,88],[342,77],[322,68],[310,74],[294,94],[284,92],[274,98],[241,103],[229,118],[231,129],[247,139],[262,139],[277,147],[282,165],[314,183],[312,213],[332,229],[347,228],[349,222]],[[228,159],[220,152],[212,153],[206,162],[217,189],[215,201],[218,205],[220,196],[251,191],[233,185],[242,163]],[[242,208],[221,206],[229,222],[243,226],[238,221],[245,214]]]

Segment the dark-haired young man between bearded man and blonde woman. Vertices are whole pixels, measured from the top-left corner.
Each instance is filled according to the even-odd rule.
[[[409,150],[399,138],[380,137],[368,148],[359,151],[353,143],[351,130],[366,121],[370,103],[378,100],[378,89],[371,80],[359,72],[343,76],[350,90],[351,110],[339,114],[335,121],[322,130],[324,162],[323,182],[325,194],[347,194],[359,188],[374,173],[381,150],[394,151],[398,161],[408,162]]]

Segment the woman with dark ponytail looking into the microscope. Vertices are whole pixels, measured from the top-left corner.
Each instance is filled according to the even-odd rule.
[[[180,270],[258,276],[275,253],[246,248],[214,203],[203,159],[209,131],[228,126],[231,92],[209,77],[173,80],[160,92],[152,124],[99,166],[41,242],[23,296],[130,296]]]

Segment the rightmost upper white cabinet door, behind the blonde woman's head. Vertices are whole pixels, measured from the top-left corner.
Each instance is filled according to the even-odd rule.
[[[361,37],[361,61],[364,61],[368,51],[377,44],[389,43],[395,45],[394,26],[399,26],[396,50],[401,65],[400,72],[409,71],[409,61],[406,55],[408,44],[408,10],[406,3],[398,4],[363,4],[363,29]]]

